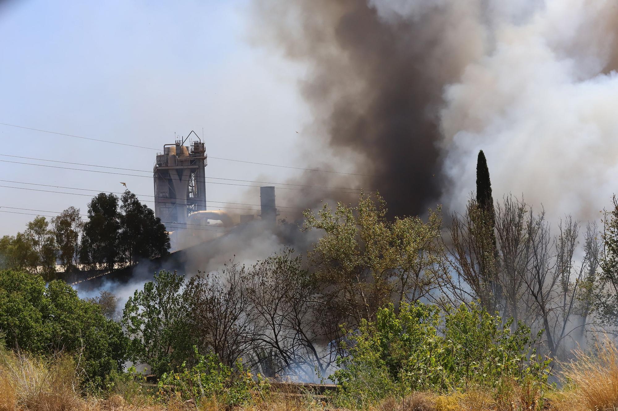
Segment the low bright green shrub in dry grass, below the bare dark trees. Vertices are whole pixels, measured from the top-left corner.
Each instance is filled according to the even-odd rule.
[[[161,399],[177,395],[185,400],[193,399],[195,404],[216,400],[218,404],[243,405],[253,399],[252,391],[268,390],[268,383],[259,374],[254,380],[241,360],[232,369],[219,362],[215,354],[200,355],[195,349],[195,357],[193,367],[187,368],[183,363],[178,371],[161,376],[158,391]]]

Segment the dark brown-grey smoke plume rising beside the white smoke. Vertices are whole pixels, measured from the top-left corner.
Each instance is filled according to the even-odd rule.
[[[300,88],[322,136],[312,149],[326,146],[342,159],[353,158],[355,172],[371,177],[347,183],[379,190],[391,216],[435,205],[441,197],[442,91],[476,47],[456,41],[469,28],[458,17],[476,7],[398,12],[384,1],[257,4],[266,41],[308,67]],[[323,183],[315,174],[303,181]]]

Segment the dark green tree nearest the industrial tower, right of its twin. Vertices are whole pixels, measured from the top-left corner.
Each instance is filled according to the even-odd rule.
[[[135,194],[125,190],[119,217],[119,250],[129,264],[139,258],[156,258],[169,252],[169,235],[153,210],[140,203]]]

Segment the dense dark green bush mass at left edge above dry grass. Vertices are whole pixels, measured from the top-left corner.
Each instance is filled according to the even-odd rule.
[[[0,329],[11,349],[74,355],[80,376],[93,388],[101,388],[126,360],[121,326],[98,305],[80,300],[64,281],[45,287],[40,276],[0,271]]]

